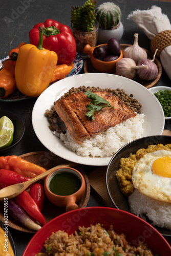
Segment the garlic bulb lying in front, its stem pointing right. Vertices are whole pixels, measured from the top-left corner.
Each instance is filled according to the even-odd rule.
[[[131,58],[122,58],[116,62],[116,75],[133,79],[136,70],[147,68],[147,66],[136,66],[136,62]]]

